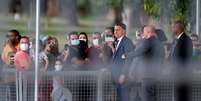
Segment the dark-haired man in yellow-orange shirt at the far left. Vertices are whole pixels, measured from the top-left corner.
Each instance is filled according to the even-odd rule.
[[[10,30],[6,35],[6,43],[2,51],[2,60],[9,67],[14,66],[14,55],[19,49],[20,33],[13,29]]]

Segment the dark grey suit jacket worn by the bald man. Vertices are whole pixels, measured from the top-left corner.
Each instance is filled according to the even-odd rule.
[[[164,59],[163,44],[157,37],[143,39],[135,51],[126,54],[126,58],[135,58],[132,68],[135,68],[135,74],[139,74],[141,79],[146,77],[156,77],[160,73],[161,65]]]

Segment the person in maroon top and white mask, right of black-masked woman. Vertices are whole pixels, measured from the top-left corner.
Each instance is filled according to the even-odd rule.
[[[89,48],[88,58],[92,68],[99,68],[102,65],[101,33],[92,34],[92,46]]]

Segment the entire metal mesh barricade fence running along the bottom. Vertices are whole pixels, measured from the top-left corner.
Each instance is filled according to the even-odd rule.
[[[192,100],[201,99],[201,75],[192,77]],[[34,101],[34,72],[16,73],[8,70],[1,73],[0,101]],[[109,72],[100,71],[61,71],[39,73],[38,101],[54,101],[69,98],[67,101],[116,101]],[[62,87],[64,93],[57,88]],[[157,101],[175,101],[173,80],[157,80]],[[130,101],[140,101],[141,84],[133,83]],[[56,93],[55,93],[56,92]],[[60,95],[63,94],[63,95]],[[139,97],[139,98],[137,98]],[[65,100],[64,100],[65,101]]]

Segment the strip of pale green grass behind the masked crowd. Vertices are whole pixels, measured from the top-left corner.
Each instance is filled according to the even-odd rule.
[[[14,20],[12,16],[0,15],[0,21],[3,21],[5,25],[0,26],[0,42],[4,42],[5,34],[10,29],[17,29],[21,35],[35,36],[34,18],[28,16],[22,16],[20,20]],[[70,31],[86,32],[88,34],[92,32],[102,32],[105,27],[110,26],[112,21],[108,21],[105,18],[93,18],[82,17],[78,20],[79,26],[70,26],[67,21],[61,18],[52,18],[47,20],[46,17],[40,18],[40,34],[55,36],[59,39],[59,47],[63,48],[66,42],[66,35]],[[135,32],[132,29],[132,33]],[[134,34],[132,34],[134,37]],[[1,51],[2,46],[0,45]]]

